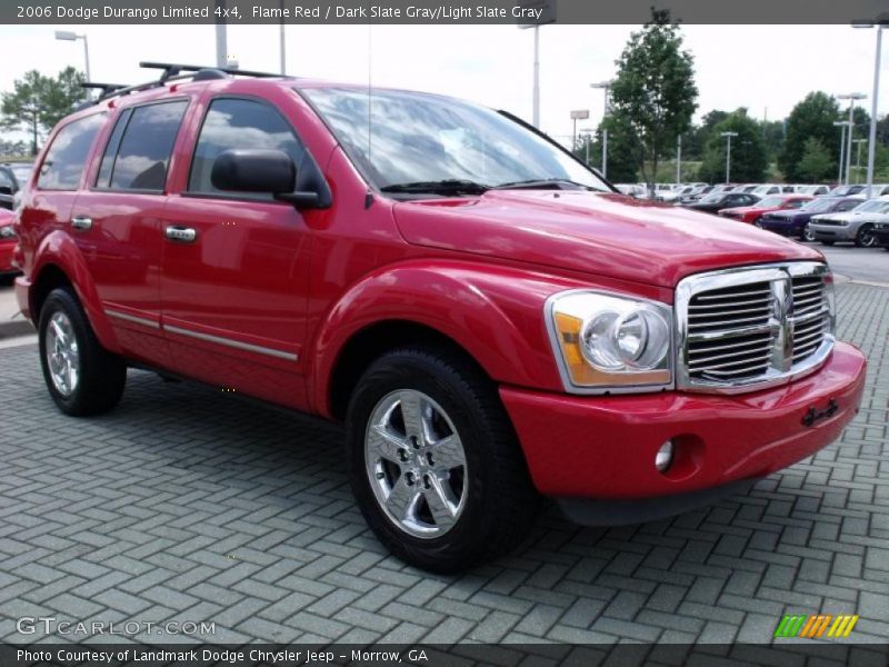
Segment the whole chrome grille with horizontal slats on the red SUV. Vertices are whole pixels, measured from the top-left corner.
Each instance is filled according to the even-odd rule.
[[[677,387],[755,390],[816,368],[833,345],[826,265],[692,276],[677,288]]]

